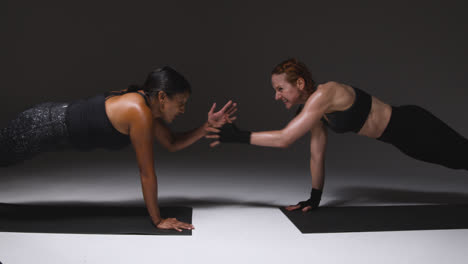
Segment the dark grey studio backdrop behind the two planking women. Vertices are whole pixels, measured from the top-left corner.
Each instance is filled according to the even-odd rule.
[[[212,102],[239,103],[239,124],[283,127],[293,116],[274,101],[270,71],[297,57],[318,82],[361,87],[391,104],[418,104],[468,135],[468,16],[465,1],[1,1],[0,124],[43,101],[70,101],[141,83],[171,65],[193,85],[175,130],[199,126]],[[161,162],[193,161],[307,168],[307,138],[287,150],[207,141],[180,153],[157,147]],[[104,155],[103,155],[104,154]],[[131,149],[97,151],[85,163],[133,162]],[[39,157],[41,164],[67,161]],[[37,162],[37,161],[36,161]],[[257,163],[258,162],[258,163]],[[436,168],[391,146],[330,133],[327,167],[357,171]],[[440,170],[443,172],[444,170]]]

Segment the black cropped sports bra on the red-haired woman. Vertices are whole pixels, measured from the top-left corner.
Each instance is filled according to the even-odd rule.
[[[353,104],[351,107],[344,111],[336,111],[328,113],[325,116],[328,121],[322,117],[322,122],[333,130],[335,133],[345,132],[359,132],[364,123],[366,123],[367,117],[372,107],[372,97],[364,92],[363,90],[352,87],[356,94]],[[299,107],[296,114],[302,110],[302,105]]]

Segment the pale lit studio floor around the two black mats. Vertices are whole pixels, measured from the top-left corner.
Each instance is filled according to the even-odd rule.
[[[112,170],[79,163],[54,170],[34,166],[0,171],[0,202],[141,200],[134,165]],[[310,188],[307,167],[174,166],[158,167],[160,200],[193,207],[196,229],[191,237],[0,233],[0,262],[468,263],[466,229],[302,234],[275,206],[305,198]],[[435,176],[424,175],[434,171]],[[327,178],[322,204],[467,201],[466,173],[434,167],[393,177],[330,170]]]

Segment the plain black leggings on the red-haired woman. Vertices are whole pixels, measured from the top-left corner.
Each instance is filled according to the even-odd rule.
[[[415,159],[468,170],[468,140],[422,107],[392,107],[390,122],[378,140]]]

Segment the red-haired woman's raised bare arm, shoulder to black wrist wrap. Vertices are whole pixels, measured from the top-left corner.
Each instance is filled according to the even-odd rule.
[[[285,128],[275,131],[253,132],[250,144],[265,147],[288,147],[320,123],[320,119],[329,107],[329,96],[327,92],[316,91],[307,100],[301,113],[291,120]]]

